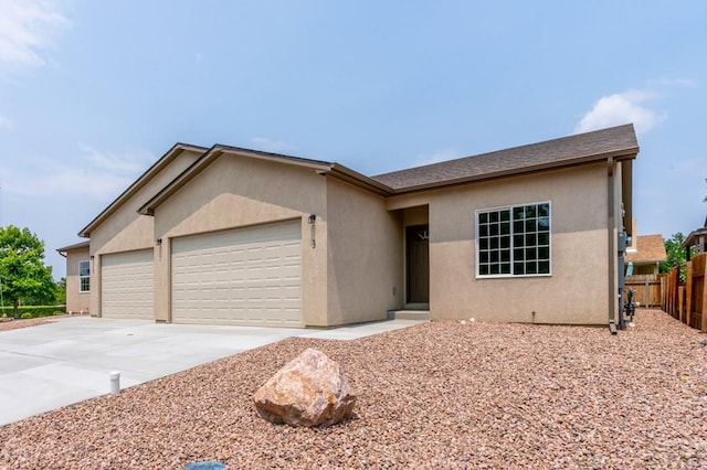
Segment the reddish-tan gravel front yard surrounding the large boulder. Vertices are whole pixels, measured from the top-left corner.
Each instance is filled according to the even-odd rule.
[[[706,338],[640,310],[614,337],[432,322],[288,339],[0,427],[0,469],[707,468]],[[257,416],[254,392],[306,348],[345,367],[352,419],[292,428]]]

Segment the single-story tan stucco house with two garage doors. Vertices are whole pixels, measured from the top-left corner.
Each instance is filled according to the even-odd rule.
[[[177,143],[80,232],[88,252],[64,250],[89,266],[96,317],[611,325],[637,152],[625,125],[366,177]]]

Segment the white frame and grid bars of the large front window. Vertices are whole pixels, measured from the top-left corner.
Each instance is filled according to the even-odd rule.
[[[537,205],[541,205],[541,204],[547,204],[548,205],[548,244],[544,245],[544,244],[538,244],[537,241],[535,243],[535,245],[532,246],[535,249],[538,249],[538,247],[546,247],[547,246],[547,250],[548,250],[548,257],[547,257],[547,261],[548,261],[548,273],[532,273],[532,274],[514,274],[514,264],[515,264],[515,259],[514,259],[514,252],[517,249],[521,249],[521,247],[516,247],[515,243],[514,243],[514,238],[515,235],[532,235],[529,234],[528,232],[524,231],[523,234],[516,234],[514,232],[514,222],[519,222],[519,221],[515,221],[514,220],[514,210],[516,209],[521,209],[521,207],[526,207],[526,206],[537,206]],[[496,263],[498,264],[498,266],[500,266],[502,264],[508,263],[509,264],[509,269],[510,271],[508,274],[482,274],[481,273],[481,267],[482,267],[482,263],[481,263],[481,229],[479,229],[479,225],[481,225],[481,214],[490,214],[490,213],[498,213],[500,216],[500,213],[503,211],[508,211],[508,213],[510,214],[510,217],[508,221],[498,221],[499,223],[503,222],[507,222],[509,225],[509,232],[507,234],[504,233],[499,233],[498,236],[508,236],[509,237],[509,247],[507,248],[508,253],[509,253],[509,258],[508,260],[503,260],[499,259],[497,261],[487,261],[487,263]],[[536,215],[535,217],[532,217],[534,220],[538,220],[540,218],[539,215]],[[525,220],[525,218],[524,218]],[[493,221],[487,222],[488,223],[493,223]],[[508,278],[527,278],[527,277],[551,277],[552,276],[552,203],[551,201],[538,201],[538,202],[527,202],[527,203],[523,203],[523,204],[509,204],[509,205],[502,205],[502,206],[496,206],[496,207],[487,207],[487,209],[477,209],[474,211],[474,229],[475,229],[475,236],[474,236],[474,245],[475,245],[475,250],[474,250],[474,260],[475,260],[475,276],[476,279],[508,279]],[[539,232],[535,232],[535,235],[537,235]],[[495,235],[494,235],[495,236]],[[490,239],[490,235],[486,235],[486,237],[488,239]],[[523,248],[529,248],[530,246],[523,246]],[[492,249],[492,248],[486,248],[486,249]],[[506,248],[499,248],[500,250],[505,250]],[[503,256],[503,255],[502,255]],[[545,258],[542,258],[541,260],[545,261]],[[500,269],[499,269],[500,270]]]

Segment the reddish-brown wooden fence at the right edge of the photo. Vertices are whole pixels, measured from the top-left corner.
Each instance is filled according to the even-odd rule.
[[[707,333],[706,268],[707,253],[701,253],[687,261],[685,282],[680,281],[679,266],[661,279],[663,310],[703,333]]]

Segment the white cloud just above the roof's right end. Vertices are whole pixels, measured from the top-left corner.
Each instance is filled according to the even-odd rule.
[[[601,97],[574,128],[588,132],[611,126],[633,122],[637,133],[651,130],[664,119],[657,111],[644,106],[657,96],[650,90],[629,90]]]

